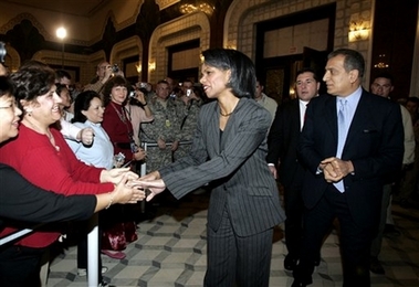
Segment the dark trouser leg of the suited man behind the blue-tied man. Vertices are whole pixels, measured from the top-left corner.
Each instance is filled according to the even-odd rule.
[[[303,236],[303,211],[304,203],[301,195],[301,187],[284,188],[285,203],[285,245],[289,255],[300,258],[301,240]]]

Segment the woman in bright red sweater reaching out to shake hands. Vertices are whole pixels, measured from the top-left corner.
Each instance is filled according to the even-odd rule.
[[[61,132],[50,128],[61,118],[54,71],[38,63],[22,66],[11,78],[17,85],[15,97],[23,118],[19,137],[0,148],[0,162],[14,168],[31,183],[65,195],[112,192],[128,169],[104,170],[84,164],[76,159]],[[133,179],[137,178],[137,174],[129,173]],[[7,226],[0,236],[15,230],[12,225]],[[40,255],[59,236],[60,232],[53,228],[36,231],[15,243],[20,248],[11,259],[38,258],[32,263],[39,270]],[[28,269],[23,267],[21,269],[22,278],[34,275],[24,274]]]

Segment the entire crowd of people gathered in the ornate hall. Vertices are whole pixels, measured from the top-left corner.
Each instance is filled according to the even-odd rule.
[[[269,286],[273,228],[283,221],[293,287],[312,283],[335,219],[344,286],[369,286],[369,272],[385,273],[381,240],[386,228],[397,234],[391,204],[415,208],[419,198],[418,98],[391,100],[388,73],[367,92],[364,59],[349,49],[328,55],[327,94],[304,67],[286,103],[263,93],[241,52],[211,49],[202,59],[200,85],[129,83],[106,61],[77,88],[67,72],[38,61],[9,76],[0,70],[0,179],[8,189],[0,236],[33,222],[77,220],[0,246],[1,286],[45,279],[42,258],[48,266],[50,246],[65,232],[77,234],[85,276],[88,219],[99,210],[99,253],[122,259],[137,240],[145,190],[154,202],[165,190],[180,199],[201,187],[211,190],[205,286]],[[106,286],[101,256],[97,266]]]

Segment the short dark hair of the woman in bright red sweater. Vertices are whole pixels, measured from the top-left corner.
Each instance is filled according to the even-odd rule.
[[[14,96],[19,108],[22,108],[20,100],[34,100],[36,97],[46,94],[55,84],[55,72],[48,65],[32,61],[13,73],[11,79],[15,85]]]

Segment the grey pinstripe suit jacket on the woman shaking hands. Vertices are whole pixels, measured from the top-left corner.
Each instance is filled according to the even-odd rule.
[[[241,98],[222,135],[219,117],[217,102],[203,105],[190,155],[160,169],[160,176],[178,199],[211,182],[208,225],[214,231],[224,208],[239,236],[273,227],[285,215],[265,161],[271,116],[253,99]]]

